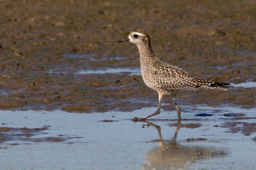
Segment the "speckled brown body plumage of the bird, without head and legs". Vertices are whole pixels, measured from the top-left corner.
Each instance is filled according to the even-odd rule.
[[[148,87],[156,91],[157,89],[164,89],[168,92],[175,92],[176,90],[198,90],[198,88],[227,90],[224,84],[218,85],[213,81],[196,78],[184,69],[162,62],[156,57],[148,59],[141,56],[141,58],[140,66],[143,80]]]

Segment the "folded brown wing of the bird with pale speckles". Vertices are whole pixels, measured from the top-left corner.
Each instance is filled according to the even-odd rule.
[[[196,78],[177,66],[162,66],[154,74],[157,76],[160,88],[165,90],[197,88],[209,86],[211,83],[214,83]]]

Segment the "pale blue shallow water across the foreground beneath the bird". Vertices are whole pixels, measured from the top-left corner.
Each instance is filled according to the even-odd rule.
[[[180,107],[179,127],[174,111],[132,122],[156,108],[93,114],[0,111],[0,169],[256,168],[255,126],[244,125],[255,122],[255,108]],[[212,116],[195,116],[202,113]]]

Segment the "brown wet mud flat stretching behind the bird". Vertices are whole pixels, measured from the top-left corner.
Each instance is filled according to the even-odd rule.
[[[92,113],[157,106],[156,92],[127,71],[140,69],[138,50],[117,43],[136,27],[148,30],[161,59],[200,78],[255,82],[254,6],[255,1],[1,1],[0,109]],[[120,73],[97,73],[113,68]],[[180,94],[177,101],[255,107],[255,95],[255,87],[230,87]],[[172,104],[163,108],[173,110]]]

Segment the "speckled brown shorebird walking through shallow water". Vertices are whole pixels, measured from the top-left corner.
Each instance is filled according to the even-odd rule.
[[[159,95],[158,108],[154,113],[142,118],[135,117],[134,121],[141,121],[158,115],[161,112],[161,103],[164,96],[172,96],[180,121],[180,108],[175,101],[175,96],[180,91],[218,89],[227,90],[229,83],[217,83],[203,80],[189,74],[184,69],[160,60],[152,50],[149,34],[145,29],[135,29],[128,38],[120,39],[119,42],[130,41],[134,43],[140,52],[141,75],[145,84],[150,89],[156,90]]]

